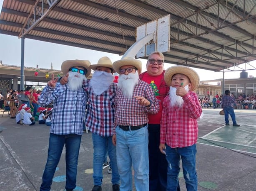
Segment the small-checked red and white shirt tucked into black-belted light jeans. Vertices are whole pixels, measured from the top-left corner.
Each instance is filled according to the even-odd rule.
[[[159,103],[153,88],[145,81],[139,80],[134,87],[133,96],[142,96],[147,100],[151,100],[151,106],[147,108],[138,104],[135,98],[125,98],[122,89],[118,88],[115,97],[115,127],[117,125],[137,126],[146,124],[148,122],[147,113],[156,114],[158,112]]]

